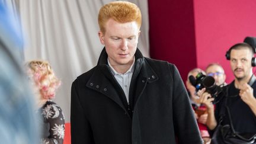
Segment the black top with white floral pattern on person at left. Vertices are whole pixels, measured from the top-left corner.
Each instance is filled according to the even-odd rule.
[[[53,101],[47,101],[39,109],[42,116],[42,144],[62,144],[65,133],[65,120],[62,109]]]

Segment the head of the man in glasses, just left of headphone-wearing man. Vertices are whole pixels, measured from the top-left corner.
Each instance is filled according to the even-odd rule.
[[[206,69],[206,74],[215,78],[216,85],[222,85],[226,80],[223,69],[218,65],[212,65]]]

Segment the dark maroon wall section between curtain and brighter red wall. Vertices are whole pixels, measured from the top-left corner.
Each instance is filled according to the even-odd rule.
[[[197,66],[193,1],[149,0],[151,57],[174,63],[183,78]]]

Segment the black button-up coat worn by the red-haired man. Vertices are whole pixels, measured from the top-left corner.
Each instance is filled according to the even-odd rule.
[[[127,105],[101,52],[97,66],[72,84],[71,140],[97,144],[202,143],[183,81],[171,63],[137,49]]]

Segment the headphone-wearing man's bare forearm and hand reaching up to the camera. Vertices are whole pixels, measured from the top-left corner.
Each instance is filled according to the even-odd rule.
[[[212,96],[209,93],[205,92],[205,90],[206,89],[203,88],[199,92],[197,92],[197,94],[200,97],[199,98],[200,103],[206,105],[206,108],[207,108],[208,117],[207,117],[206,125],[210,130],[213,130],[217,126],[217,121],[215,119],[214,105],[212,103],[214,98],[212,98]]]

